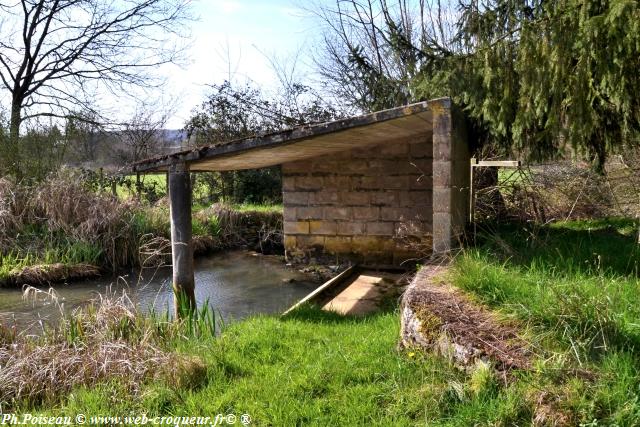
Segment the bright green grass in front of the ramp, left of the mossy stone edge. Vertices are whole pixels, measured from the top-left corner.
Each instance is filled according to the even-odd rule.
[[[363,319],[314,308],[284,319],[254,317],[228,326],[217,340],[171,344],[206,366],[196,387],[147,382],[131,398],[112,381],[77,388],[44,411],[248,413],[252,425],[470,425],[529,416],[520,391],[501,390],[486,368],[466,374],[438,357],[399,352],[397,337],[393,309]]]

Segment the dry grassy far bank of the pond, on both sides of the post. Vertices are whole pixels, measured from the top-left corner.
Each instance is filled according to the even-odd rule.
[[[166,198],[153,205],[122,201],[96,191],[72,170],[63,169],[36,187],[1,178],[0,256],[5,262],[0,262],[0,286],[167,264],[168,220]],[[215,204],[194,215],[196,255],[239,247],[281,250],[282,213]]]

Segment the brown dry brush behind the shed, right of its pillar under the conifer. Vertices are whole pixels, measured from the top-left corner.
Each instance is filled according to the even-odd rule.
[[[476,219],[517,218],[539,224],[558,220],[640,216],[639,150],[612,156],[603,175],[585,162],[532,164],[502,169],[497,186],[477,194]],[[477,170],[476,185],[483,171]],[[499,196],[497,196],[499,194]],[[503,203],[495,203],[501,197]]]

